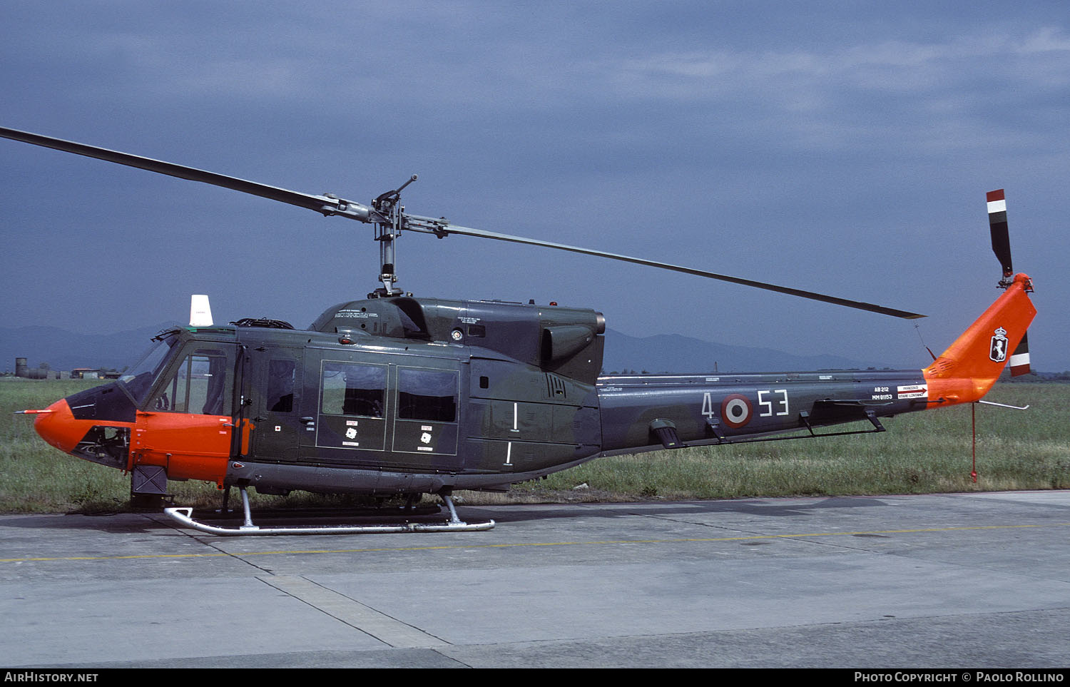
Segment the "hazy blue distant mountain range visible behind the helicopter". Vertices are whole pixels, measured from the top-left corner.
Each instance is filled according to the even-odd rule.
[[[30,367],[47,363],[58,370],[76,367],[122,369],[137,361],[149,339],[178,322],[114,334],[77,334],[56,326],[0,327],[0,372],[14,371],[15,358]],[[869,364],[837,355],[795,355],[767,348],[728,346],[678,334],[635,337],[606,332],[607,372],[714,372],[865,369]]]

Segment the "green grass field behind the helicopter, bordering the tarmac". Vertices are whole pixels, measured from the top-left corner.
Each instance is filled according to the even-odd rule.
[[[127,507],[127,476],[48,446],[34,433],[31,416],[12,414],[44,408],[96,383],[0,382],[0,513]],[[507,494],[461,492],[459,501],[648,501],[1070,488],[1070,384],[997,384],[988,400],[1030,408],[977,408],[977,484],[969,474],[970,408],[965,406],[887,419],[888,431],[878,434],[600,458],[547,479],[516,485]],[[213,485],[171,483],[170,488],[182,505],[218,500]],[[254,498],[257,505],[284,507],[339,501],[346,500],[300,492],[286,499]]]

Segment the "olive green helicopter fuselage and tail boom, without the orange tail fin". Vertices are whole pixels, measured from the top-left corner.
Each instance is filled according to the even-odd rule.
[[[598,377],[605,324],[581,308],[370,299],[307,331],[265,322],[158,337],[124,380],[70,399],[92,421],[72,453],[133,471],[136,492],[504,489],[609,454],[880,428],[927,403],[920,370]]]

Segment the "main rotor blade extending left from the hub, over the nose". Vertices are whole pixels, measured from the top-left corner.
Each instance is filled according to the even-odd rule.
[[[34,146],[42,146],[44,148],[51,148],[54,150],[61,150],[66,153],[75,153],[76,155],[95,157],[96,159],[103,159],[118,165],[125,165],[127,167],[137,167],[138,169],[167,174],[168,177],[178,177],[179,179],[187,179],[189,181],[199,181],[214,186],[223,186],[224,188],[231,188],[245,194],[260,196],[261,198],[278,200],[291,205],[297,205],[299,208],[307,208],[308,210],[315,210],[316,212],[323,214],[338,214],[349,216],[361,222],[368,222],[368,209],[360,203],[347,200],[327,198],[326,196],[314,196],[311,194],[303,194],[296,190],[288,190],[286,188],[269,186],[268,184],[261,184],[255,181],[238,179],[236,177],[217,174],[203,169],[185,167],[183,165],[175,165],[174,163],[165,163],[159,159],[152,159],[151,157],[131,155],[129,153],[121,153],[106,148],[97,148],[95,146],[77,143],[75,141],[67,141],[61,138],[52,138],[51,136],[42,136],[41,134],[20,132],[18,129],[6,128],[3,126],[0,126],[0,137],[22,141],[25,143],[32,143]]]

